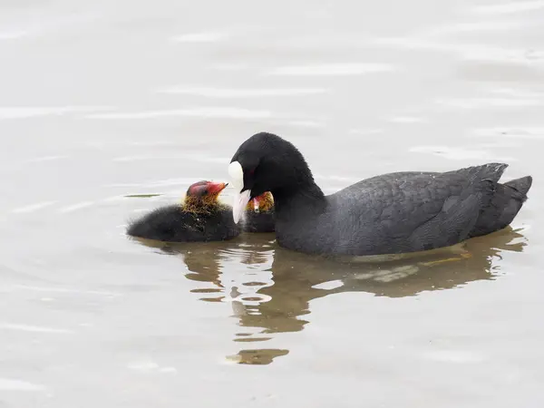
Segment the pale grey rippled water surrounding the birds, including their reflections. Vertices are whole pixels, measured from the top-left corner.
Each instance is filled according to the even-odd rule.
[[[539,0],[4,2],[0,406],[540,406],[543,17]],[[512,228],[390,263],[124,236],[265,130],[326,192],[491,160],[535,183]]]

